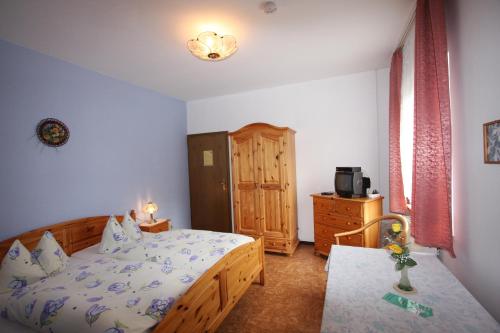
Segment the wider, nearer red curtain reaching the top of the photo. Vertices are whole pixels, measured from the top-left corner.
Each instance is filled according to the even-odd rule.
[[[417,0],[412,233],[453,253],[451,115],[443,0]]]

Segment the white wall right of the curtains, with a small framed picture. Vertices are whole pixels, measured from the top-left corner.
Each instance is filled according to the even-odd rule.
[[[500,119],[500,1],[448,1],[456,259],[445,264],[500,321],[500,165],[482,124]]]

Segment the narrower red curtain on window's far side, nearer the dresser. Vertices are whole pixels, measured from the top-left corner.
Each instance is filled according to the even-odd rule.
[[[392,55],[389,87],[389,209],[394,213],[406,214],[399,142],[402,71],[403,52],[397,49]]]

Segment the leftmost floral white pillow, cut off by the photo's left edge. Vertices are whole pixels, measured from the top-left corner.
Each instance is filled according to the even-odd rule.
[[[16,239],[2,260],[0,291],[20,289],[46,276],[38,262],[32,260],[28,249]]]

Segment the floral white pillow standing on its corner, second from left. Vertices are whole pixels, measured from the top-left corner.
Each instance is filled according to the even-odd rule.
[[[32,254],[48,275],[62,272],[69,260],[50,231],[44,232]]]

